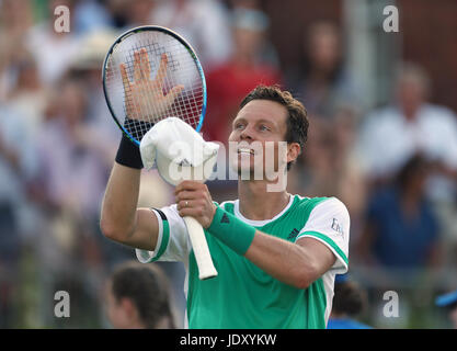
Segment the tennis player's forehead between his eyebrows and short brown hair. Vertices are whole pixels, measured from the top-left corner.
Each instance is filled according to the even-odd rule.
[[[248,102],[237,114],[233,121],[245,120],[249,122],[269,121],[277,126],[286,125],[287,109],[281,103],[271,100],[252,100]]]

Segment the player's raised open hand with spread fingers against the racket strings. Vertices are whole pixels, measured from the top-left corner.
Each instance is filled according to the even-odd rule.
[[[119,65],[123,79],[127,117],[130,120],[157,122],[173,104],[184,86],[173,87],[165,95],[163,80],[167,75],[168,57],[162,54],[156,78],[150,79],[151,65],[145,48],[134,53],[134,81],[127,76],[125,64]]]

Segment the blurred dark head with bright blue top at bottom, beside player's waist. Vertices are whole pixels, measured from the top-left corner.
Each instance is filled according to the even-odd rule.
[[[334,283],[332,312],[327,329],[372,329],[357,321],[367,305],[365,291],[347,274],[338,274]]]

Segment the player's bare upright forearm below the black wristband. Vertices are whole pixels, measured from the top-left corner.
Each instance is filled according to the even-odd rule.
[[[139,169],[114,162],[101,213],[101,227],[105,236],[119,239],[134,231],[139,182]]]

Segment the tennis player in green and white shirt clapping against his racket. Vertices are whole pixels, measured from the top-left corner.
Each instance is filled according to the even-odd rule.
[[[283,141],[286,155],[275,152],[275,166],[287,174],[307,132],[306,110],[289,92],[255,88],[241,102],[229,137],[244,141],[236,149],[237,171],[253,173],[249,145]],[[335,274],[349,264],[350,216],[342,202],[269,191],[277,180],[240,176],[238,200],[216,204],[205,184],[184,181],[175,188],[175,204],[137,208],[140,166],[130,158],[140,158],[122,148],[106,188],[102,231],[136,248],[140,262],[184,262],[188,328],[325,328]],[[198,279],[183,216],[204,227],[216,278]]]

